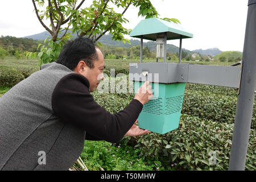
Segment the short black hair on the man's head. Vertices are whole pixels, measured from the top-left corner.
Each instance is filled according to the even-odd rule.
[[[95,44],[89,38],[76,38],[70,40],[63,47],[56,63],[63,64],[73,70],[79,61],[85,61],[89,68],[94,68],[94,60],[98,59]]]

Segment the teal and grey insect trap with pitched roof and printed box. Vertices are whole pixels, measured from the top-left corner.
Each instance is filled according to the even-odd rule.
[[[185,79],[177,79],[179,64],[166,63],[167,40],[192,38],[178,24],[158,18],[141,20],[131,31],[131,37],[141,38],[141,63],[129,64],[129,80],[134,81],[135,93],[139,87],[149,81],[152,85],[153,98],[144,104],[139,114],[138,125],[141,129],[165,134],[179,127],[181,107],[183,104]],[[156,42],[156,62],[142,63],[143,39]],[[163,62],[158,60],[163,58]],[[179,60],[180,61],[180,60]]]

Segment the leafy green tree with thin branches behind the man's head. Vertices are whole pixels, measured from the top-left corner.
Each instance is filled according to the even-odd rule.
[[[159,15],[150,0],[94,0],[92,5],[80,9],[84,2],[85,0],[80,3],[77,0],[32,0],[39,22],[51,34],[51,40],[46,39],[44,45],[39,44],[39,47],[41,46],[37,55],[40,59],[39,65],[57,59],[65,42],[72,38],[68,30],[76,32],[77,36],[91,38],[94,42],[109,32],[113,40],[129,43],[123,35],[128,35],[130,30],[122,26],[123,23],[129,22],[124,17],[129,7],[139,7],[138,16],[145,18]],[[115,12],[113,7],[117,7],[118,10],[122,9],[122,13]],[[43,22],[47,19],[51,22],[49,27]],[[174,18],[163,19],[180,23]],[[60,32],[64,33],[58,37]],[[27,56],[35,57],[35,54],[30,52]]]

